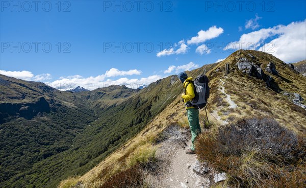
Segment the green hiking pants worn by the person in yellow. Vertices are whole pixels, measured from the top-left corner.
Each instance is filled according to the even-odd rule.
[[[191,131],[191,150],[194,151],[194,140],[198,134],[201,133],[199,123],[199,110],[197,108],[189,108],[187,110],[188,123]]]

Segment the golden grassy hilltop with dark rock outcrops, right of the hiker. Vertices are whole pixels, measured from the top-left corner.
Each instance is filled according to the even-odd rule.
[[[249,54],[255,56],[256,59],[252,59]],[[254,64],[258,64],[264,74],[271,76],[270,86],[267,86],[263,79],[248,76],[238,70],[236,63],[239,58],[247,58]],[[277,76],[266,71],[265,67],[269,62],[274,62],[278,72]],[[238,105],[236,112],[232,114],[231,109],[223,108],[224,119],[231,115],[233,118],[235,115],[237,117],[271,116],[291,129],[305,133],[306,110],[293,104],[292,95],[289,97],[284,95],[286,92],[298,93],[303,99],[306,99],[305,77],[294,72],[286,63],[274,56],[258,51],[237,51],[219,63],[216,68],[224,71],[225,63],[230,65],[230,74],[226,78],[222,78],[218,72],[210,73],[212,85],[220,85],[220,78],[222,78],[225,81],[225,92],[230,94],[232,100]],[[218,90],[217,93],[221,95]],[[305,104],[305,100],[301,103]]]

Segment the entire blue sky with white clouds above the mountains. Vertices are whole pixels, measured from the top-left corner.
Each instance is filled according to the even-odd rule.
[[[306,58],[305,10],[305,1],[1,1],[1,74],[94,89],[149,83],[240,48],[295,62]]]

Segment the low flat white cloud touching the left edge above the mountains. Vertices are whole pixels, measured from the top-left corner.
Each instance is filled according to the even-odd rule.
[[[32,72],[28,70],[22,70],[22,71],[6,71],[6,70],[0,70],[0,74],[6,75],[9,77],[14,77],[22,80],[28,80],[28,81],[46,81],[52,79],[50,74],[41,74],[41,75],[34,75]]]

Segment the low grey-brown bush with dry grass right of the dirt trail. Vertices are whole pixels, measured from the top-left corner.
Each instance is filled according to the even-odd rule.
[[[201,134],[196,153],[237,187],[302,187],[306,181],[305,138],[272,119],[240,120]]]

